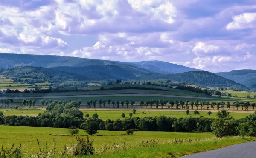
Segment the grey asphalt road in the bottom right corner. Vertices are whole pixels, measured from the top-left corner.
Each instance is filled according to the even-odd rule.
[[[255,147],[256,141],[251,141],[180,158],[256,158]]]

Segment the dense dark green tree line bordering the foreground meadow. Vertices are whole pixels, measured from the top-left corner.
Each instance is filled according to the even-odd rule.
[[[46,103],[46,101],[41,101]],[[0,112],[0,124],[12,126],[34,126],[34,127],[58,127],[58,128],[80,128],[88,130],[141,130],[141,131],[176,131],[176,132],[214,132],[217,136],[226,135],[256,135],[256,115],[235,120],[225,110],[217,114],[217,118],[171,118],[166,116],[159,117],[132,117],[123,120],[102,120],[97,114],[92,118],[84,118],[79,110],[79,103],[76,101],[51,101],[44,113],[38,116],[4,116]],[[136,110],[133,111],[135,114]],[[89,117],[89,116],[88,116]],[[217,122],[217,123],[216,123]],[[220,126],[224,124],[225,126]],[[221,133],[218,132],[222,128]],[[226,131],[227,130],[227,131]]]

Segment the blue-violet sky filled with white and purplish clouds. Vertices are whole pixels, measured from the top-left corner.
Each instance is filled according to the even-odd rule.
[[[0,52],[256,69],[256,0],[0,0]]]

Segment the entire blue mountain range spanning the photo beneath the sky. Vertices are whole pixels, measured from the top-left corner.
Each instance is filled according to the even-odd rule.
[[[256,70],[210,73],[163,61],[119,62],[69,56],[0,53],[0,68],[17,66],[43,67],[94,80],[169,79],[208,87],[235,86],[242,90],[256,87]]]

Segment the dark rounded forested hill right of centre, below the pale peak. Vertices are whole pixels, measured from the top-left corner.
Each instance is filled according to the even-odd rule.
[[[208,71],[190,71],[185,73],[166,75],[172,81],[181,82],[188,81],[195,85],[203,85],[207,87],[230,87],[231,90],[247,90],[244,85],[236,83],[230,79],[225,79]]]

